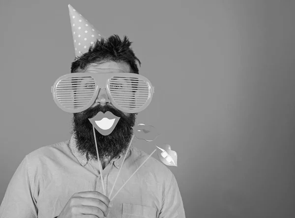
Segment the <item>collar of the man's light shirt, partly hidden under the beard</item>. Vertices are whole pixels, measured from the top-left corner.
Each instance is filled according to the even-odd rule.
[[[126,155],[126,159],[130,156],[130,149],[131,149],[132,146],[130,146],[130,148],[128,149],[128,153]],[[86,157],[86,154],[84,155],[81,155],[78,151],[78,148],[77,148],[77,145],[76,145],[76,139],[74,137],[74,135],[71,136],[71,139],[70,139],[70,149],[73,153],[73,155],[78,159],[79,163],[82,165],[82,166],[85,166],[87,163],[88,163],[88,160],[87,160],[87,157]],[[122,164],[123,162],[123,159],[124,159],[124,156],[125,156],[125,153],[121,153],[120,156],[116,159],[113,159],[110,163],[111,164],[114,164],[114,166],[116,168],[119,168],[120,165]]]

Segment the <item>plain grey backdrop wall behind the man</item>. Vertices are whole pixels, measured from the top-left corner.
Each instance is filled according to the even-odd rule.
[[[155,86],[137,121],[177,151],[187,218],[295,217],[294,0],[0,0],[0,199],[27,154],[70,138],[51,94],[69,3],[134,42]]]

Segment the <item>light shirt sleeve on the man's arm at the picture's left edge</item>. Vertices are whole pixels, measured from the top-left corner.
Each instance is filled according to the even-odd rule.
[[[13,174],[0,205],[0,218],[37,218],[27,156]]]

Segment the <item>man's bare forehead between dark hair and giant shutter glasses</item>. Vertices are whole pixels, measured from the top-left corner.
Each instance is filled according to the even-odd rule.
[[[104,63],[91,63],[85,73],[130,73],[130,66],[125,62],[108,61]]]

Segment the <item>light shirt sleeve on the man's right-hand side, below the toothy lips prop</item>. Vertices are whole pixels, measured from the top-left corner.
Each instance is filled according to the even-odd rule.
[[[171,172],[171,181],[163,195],[162,209],[158,218],[185,218],[182,198],[177,185],[176,178]]]

